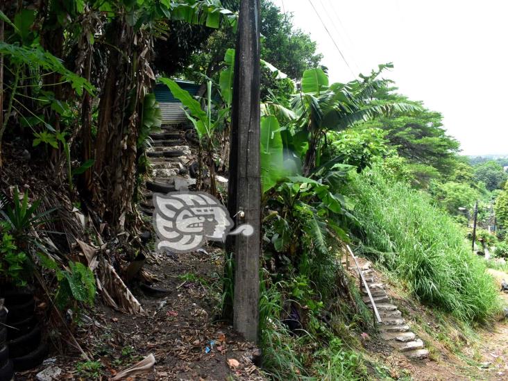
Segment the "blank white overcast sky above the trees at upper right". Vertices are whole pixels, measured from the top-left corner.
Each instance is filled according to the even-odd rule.
[[[384,77],[441,112],[463,154],[508,154],[508,1],[273,2],[293,12],[296,27],[316,40],[332,81],[350,81],[353,73],[393,62]]]

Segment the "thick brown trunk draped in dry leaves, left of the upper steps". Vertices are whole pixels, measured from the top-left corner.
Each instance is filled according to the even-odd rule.
[[[132,212],[142,101],[153,79],[147,69],[151,50],[146,46],[153,43],[149,35],[135,35],[125,19],[117,19],[115,24],[112,45],[117,49],[110,51],[99,102],[92,193],[99,215],[112,232],[119,232],[129,223],[127,217]]]

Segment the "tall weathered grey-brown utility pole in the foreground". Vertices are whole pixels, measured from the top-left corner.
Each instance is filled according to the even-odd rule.
[[[240,3],[232,128],[228,210],[236,225],[248,223],[254,234],[235,236],[233,327],[257,342],[260,298],[260,0]]]

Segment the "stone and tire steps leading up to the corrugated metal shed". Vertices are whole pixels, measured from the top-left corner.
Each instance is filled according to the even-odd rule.
[[[153,214],[152,196],[154,193],[176,192],[189,189],[196,183],[191,177],[194,155],[185,138],[185,128],[165,125],[162,132],[150,135],[153,142],[146,155],[151,162],[151,180],[146,181],[145,201],[140,204],[141,211],[147,216]],[[189,134],[187,134],[189,135]]]

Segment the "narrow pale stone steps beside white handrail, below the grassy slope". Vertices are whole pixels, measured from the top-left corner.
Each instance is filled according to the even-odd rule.
[[[350,267],[350,271],[354,271],[359,277],[356,267]],[[362,271],[369,285],[375,306],[378,307],[382,321],[380,323],[382,339],[409,359],[427,358],[429,351],[425,349],[425,343],[411,331],[397,306],[391,303],[386,285],[378,279],[373,269],[371,269],[370,262],[366,262],[360,271]],[[366,305],[371,307],[371,300],[364,287],[362,287],[362,294]]]

